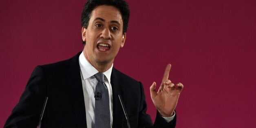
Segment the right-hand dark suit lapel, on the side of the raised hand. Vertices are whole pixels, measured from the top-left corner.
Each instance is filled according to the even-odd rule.
[[[121,128],[124,122],[124,112],[122,110],[121,103],[119,101],[118,95],[121,95],[124,101],[124,92],[121,79],[117,74],[117,70],[113,68],[111,73],[111,86],[113,91],[113,127]]]

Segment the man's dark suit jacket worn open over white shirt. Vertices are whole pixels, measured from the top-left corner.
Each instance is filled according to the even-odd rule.
[[[69,60],[37,66],[13,108],[4,127],[36,128],[45,97],[48,98],[43,128],[86,128],[86,112],[79,67],[79,52]],[[146,114],[146,101],[140,82],[113,68],[111,74],[113,90],[113,127],[125,128],[127,122],[118,99],[121,95],[130,119],[131,128],[153,127]],[[174,128],[176,117],[167,123],[157,113],[154,127]]]

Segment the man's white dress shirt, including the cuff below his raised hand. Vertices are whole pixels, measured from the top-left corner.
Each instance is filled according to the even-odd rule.
[[[95,87],[98,83],[97,79],[93,76],[99,71],[94,68],[88,60],[84,57],[84,52],[79,55],[79,65],[81,70],[81,78],[82,78],[82,86],[84,92],[84,104],[86,110],[86,123],[87,128],[94,128],[95,126],[95,116],[94,116],[94,109],[95,109],[95,98],[94,92]],[[110,108],[110,123],[111,128],[113,127],[113,93],[112,93],[112,86],[110,84],[110,76],[112,73],[112,66],[105,71],[103,74],[106,76],[104,78],[104,83],[108,88],[108,95],[109,95],[109,108]],[[163,117],[166,121],[172,121],[174,119],[175,113],[172,117]]]

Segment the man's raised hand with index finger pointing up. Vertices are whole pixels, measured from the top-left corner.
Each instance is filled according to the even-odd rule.
[[[163,117],[171,117],[174,115],[174,109],[177,106],[179,95],[183,89],[183,84],[178,83],[176,86],[170,81],[169,72],[171,64],[166,66],[163,73],[163,80],[159,90],[156,92],[156,82],[150,86],[150,95],[154,106]]]

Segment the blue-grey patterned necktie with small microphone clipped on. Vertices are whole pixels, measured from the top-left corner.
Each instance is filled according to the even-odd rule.
[[[98,84],[95,88],[95,128],[111,128],[108,88],[104,83],[105,75],[96,73]]]

